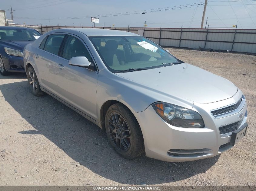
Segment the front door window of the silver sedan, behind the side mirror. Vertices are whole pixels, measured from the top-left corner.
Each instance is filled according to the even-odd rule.
[[[91,62],[91,56],[82,41],[69,35],[64,46],[62,57],[69,60],[75,56],[85,56],[89,62]]]

